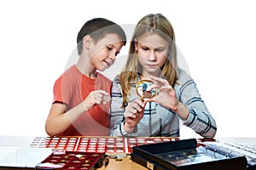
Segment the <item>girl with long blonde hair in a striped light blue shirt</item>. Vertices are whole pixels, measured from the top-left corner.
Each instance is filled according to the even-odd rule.
[[[158,95],[139,99],[140,80],[154,81]],[[112,136],[179,136],[179,122],[202,137],[213,138],[217,127],[195,82],[177,66],[175,35],[162,14],[141,19],[131,39],[123,71],[114,78]]]

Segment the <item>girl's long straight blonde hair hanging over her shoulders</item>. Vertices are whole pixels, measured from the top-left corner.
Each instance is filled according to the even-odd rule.
[[[129,102],[127,95],[131,88],[130,83],[136,82],[137,74],[142,71],[142,65],[138,61],[134,42],[137,41],[138,37],[145,34],[157,34],[165,39],[166,42],[169,42],[166,63],[160,68],[161,77],[166,78],[172,87],[177,82],[177,49],[172,25],[162,14],[148,14],[137,23],[131,39],[126,64],[119,75],[119,82],[123,93],[123,107]]]

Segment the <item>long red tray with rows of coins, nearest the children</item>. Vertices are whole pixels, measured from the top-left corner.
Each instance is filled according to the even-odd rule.
[[[31,148],[52,148],[96,153],[127,153],[133,146],[141,144],[156,144],[177,139],[169,137],[36,137],[32,140]]]

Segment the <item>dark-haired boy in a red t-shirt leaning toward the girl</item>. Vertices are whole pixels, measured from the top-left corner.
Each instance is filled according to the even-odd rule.
[[[49,136],[108,136],[112,82],[97,71],[113,65],[125,46],[123,29],[110,20],[87,21],[77,38],[79,61],[59,77],[45,123]]]

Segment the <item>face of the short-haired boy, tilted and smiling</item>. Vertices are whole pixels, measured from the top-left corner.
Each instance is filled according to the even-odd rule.
[[[107,34],[96,43],[90,46],[90,64],[96,70],[104,71],[113,65],[117,54],[123,47],[124,43],[116,34]]]

